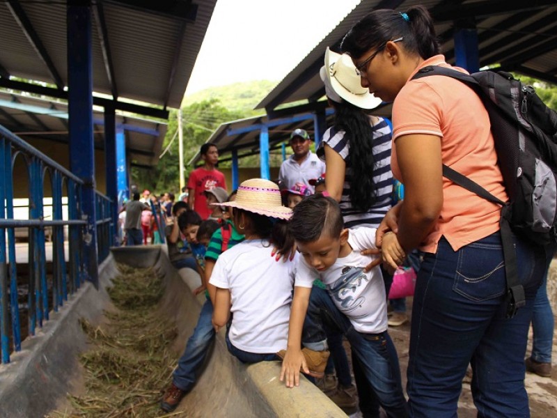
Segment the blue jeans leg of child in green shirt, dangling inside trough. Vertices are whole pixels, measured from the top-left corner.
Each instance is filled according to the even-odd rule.
[[[178,367],[173,374],[173,383],[183,391],[189,391],[196,384],[201,371],[201,366],[209,353],[209,348],[214,340],[215,332],[211,319],[213,305],[209,299],[205,300],[199,319],[194,330],[187,340],[184,354],[178,360]]]

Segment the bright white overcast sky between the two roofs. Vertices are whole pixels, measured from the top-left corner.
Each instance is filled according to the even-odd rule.
[[[279,82],[360,0],[218,0],[186,95],[235,82]]]

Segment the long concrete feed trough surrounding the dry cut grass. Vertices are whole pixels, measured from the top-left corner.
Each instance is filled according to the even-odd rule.
[[[87,349],[79,320],[84,318],[91,324],[104,320],[103,309],[111,305],[106,288],[119,274],[116,263],[153,267],[162,276],[164,293],[159,310],[175,323],[178,336],[173,349],[178,359],[203,303],[203,295],[196,298],[190,290],[199,283],[198,274],[189,269],[177,272],[159,246],[115,248],[101,265],[100,290],[90,284],[83,286],[54,314],[54,320],[24,341],[24,350],[13,355],[13,362],[0,366],[0,417],[42,417],[63,410],[62,405],[68,404],[66,394],[79,392],[83,378],[78,357]],[[284,387],[278,380],[279,371],[278,362],[240,364],[226,350],[221,331],[198,384],[172,416],[346,417],[305,379],[298,388]],[[170,376],[169,370],[166,384]],[[155,397],[158,401],[159,396]]]

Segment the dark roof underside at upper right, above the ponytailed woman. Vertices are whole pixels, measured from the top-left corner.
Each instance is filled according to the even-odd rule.
[[[401,12],[427,7],[448,62],[454,63],[455,20],[473,14],[478,30],[480,66],[501,64],[505,70],[557,83],[557,3],[555,1],[363,0],[256,107],[272,111],[281,104],[315,101],[324,95],[319,77],[327,46],[336,47],[350,28],[375,8]],[[526,59],[528,58],[528,59]]]

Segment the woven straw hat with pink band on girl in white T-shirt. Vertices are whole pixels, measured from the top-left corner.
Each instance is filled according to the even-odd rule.
[[[244,181],[238,187],[235,201],[212,204],[230,206],[280,219],[290,219],[292,216],[292,210],[282,205],[281,191],[278,186],[263,178],[251,178]]]

